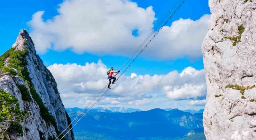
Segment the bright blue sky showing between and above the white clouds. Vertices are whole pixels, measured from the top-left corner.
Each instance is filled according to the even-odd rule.
[[[146,9],[149,6],[152,6],[153,12],[155,13],[155,18],[157,19],[153,22],[153,24],[155,25],[159,22],[159,20],[163,17],[163,15],[167,13],[167,11],[176,1],[174,0],[168,0],[168,1],[167,0],[132,0],[131,2],[137,3],[137,6],[143,9]],[[35,28],[29,25],[28,23],[29,21],[32,20],[32,15],[34,15],[37,11],[44,11],[42,15],[42,19],[43,19],[43,22],[46,22],[47,19],[53,19],[54,16],[60,14],[57,11],[57,9],[60,8],[59,4],[61,3],[63,3],[62,0],[0,1],[1,7],[2,7],[0,9],[0,23],[1,23],[0,31],[2,32],[0,34],[0,40],[1,40],[0,54],[2,54],[3,52],[5,52],[11,47],[11,45],[15,42],[15,39],[21,29],[26,29],[29,33],[35,32]],[[210,14],[210,10],[208,7],[208,0],[187,0],[167,25],[171,26],[173,21],[177,21],[180,18],[191,19],[192,21],[199,20],[205,14]],[[84,27],[84,28],[88,28],[88,27]],[[153,27],[153,29],[155,28]],[[113,41],[122,41],[122,40],[113,40]],[[140,42],[137,42],[137,44],[139,43]],[[179,43],[180,42],[176,42],[176,44],[179,44]],[[51,44],[51,45],[54,46],[54,44]],[[35,46],[37,46],[37,44],[35,44]],[[74,52],[74,49],[72,49],[72,46],[71,48],[65,48],[62,50],[57,50],[53,46],[50,49],[47,49],[46,52],[39,53],[40,57],[42,58],[46,66],[51,66],[55,63],[56,64],[76,63],[78,65],[84,65],[86,62],[88,62],[89,64],[92,62],[97,63],[98,60],[100,59],[102,63],[107,67],[114,67],[118,69],[129,58],[128,57],[129,54],[131,54],[131,53],[128,53],[123,55],[122,52],[101,54],[98,51],[86,51],[86,50],[81,51],[81,53],[80,52],[77,53],[77,52]],[[161,49],[161,46],[157,46],[157,47],[158,49]],[[150,52],[148,53],[150,54]],[[157,75],[168,74],[169,72],[174,70],[178,71],[178,73],[181,73],[187,67],[193,67],[196,70],[203,69],[202,55],[197,55],[194,58],[192,58],[189,55],[181,55],[179,57],[174,57],[174,58],[165,57],[164,59],[154,57],[153,55],[144,55],[142,57],[139,57],[135,61],[132,67],[125,73],[125,75],[129,76],[131,73],[136,73],[137,75],[149,74],[152,76],[154,74],[157,74]],[[201,99],[201,97],[196,99]],[[178,102],[181,102],[181,101],[178,101]],[[153,105],[151,106],[152,108],[154,107]],[[136,106],[133,106],[133,107],[136,107]],[[168,108],[168,106],[166,108]],[[198,109],[198,107],[195,107],[195,108]]]

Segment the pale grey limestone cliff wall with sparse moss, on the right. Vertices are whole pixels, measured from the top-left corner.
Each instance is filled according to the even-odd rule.
[[[207,140],[256,138],[256,1],[209,0],[202,44],[207,81]]]

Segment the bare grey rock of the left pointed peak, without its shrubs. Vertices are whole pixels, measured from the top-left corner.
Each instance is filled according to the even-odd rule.
[[[7,140],[40,140],[42,137],[45,138],[45,140],[53,139],[57,137],[57,131],[61,132],[68,126],[68,118],[65,114],[65,109],[60,99],[55,79],[50,71],[44,66],[40,57],[36,54],[33,41],[26,31],[22,30],[19,33],[19,36],[12,47],[15,47],[16,50],[24,51],[25,48],[28,50],[25,61],[27,62],[26,67],[29,77],[36,93],[49,109],[50,114],[55,118],[58,130],[54,128],[54,125],[49,123],[46,124],[45,120],[42,119],[39,105],[34,99],[31,102],[22,100],[21,92],[18,89],[17,84],[25,85],[29,91],[28,84],[18,75],[14,77],[10,76],[8,73],[1,73],[0,89],[14,95],[18,99],[22,111],[28,110],[30,112],[29,117],[21,123],[23,136],[7,133],[4,137]],[[8,65],[7,61],[6,65]],[[71,133],[66,135],[65,138],[66,140],[74,139]]]

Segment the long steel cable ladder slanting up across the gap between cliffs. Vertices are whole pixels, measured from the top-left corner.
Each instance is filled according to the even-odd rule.
[[[155,26],[156,29],[158,29],[156,32],[152,31],[147,38],[142,42],[142,44],[139,45],[137,50],[132,54],[132,56],[122,65],[120,70],[125,68],[122,73],[117,77],[116,82],[118,79],[126,72],[126,70],[131,66],[131,64],[138,58],[138,56],[145,50],[145,48],[149,45],[149,43],[156,37],[156,35],[159,33],[159,31],[165,26],[168,21],[173,17],[173,15],[179,10],[179,8],[184,4],[185,0],[177,0],[174,4],[173,8],[171,8],[168,13],[164,16],[164,18]],[[173,9],[173,10],[172,10]],[[153,35],[153,36],[152,36]],[[147,42],[147,43],[146,43]],[[140,51],[139,51],[140,50]],[[135,56],[135,57],[134,57]],[[126,66],[129,63],[128,66]],[[125,67],[126,66],[126,67]],[[116,77],[118,73],[116,73],[113,77]],[[72,122],[55,138],[57,140],[59,137],[61,137],[59,140],[63,139],[76,124],[87,114],[91,109],[94,107],[94,105],[99,102],[99,100],[108,92],[109,88],[107,88],[108,83],[104,86],[104,88],[89,102],[89,104],[86,105],[86,107],[80,111],[80,113],[77,114],[76,118],[72,120]],[[112,86],[112,85],[111,85]],[[111,88],[110,86],[110,88]],[[106,89],[106,90],[105,90]],[[105,91],[104,91],[105,90]],[[103,92],[104,91],[104,92]],[[103,92],[103,93],[102,93]],[[98,97],[98,98],[97,98]],[[97,98],[97,99],[96,99]],[[95,100],[96,99],[96,100]],[[92,105],[91,105],[92,104]],[[91,106],[90,106],[91,105]],[[90,106],[90,107],[89,107]],[[85,109],[88,108],[86,112]],[[73,126],[72,123],[74,122]],[[66,132],[67,130],[67,132]],[[65,133],[66,132],[66,133]],[[64,135],[62,135],[65,133]]]

